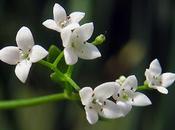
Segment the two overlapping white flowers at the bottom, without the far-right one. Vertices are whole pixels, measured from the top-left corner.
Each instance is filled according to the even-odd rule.
[[[94,91],[90,87],[80,90],[82,104],[85,105],[86,118],[90,124],[98,120],[98,114],[104,118],[124,117],[133,106],[151,104],[149,98],[137,89],[134,75],[120,77],[115,82],[107,82],[97,86]],[[112,100],[110,100],[112,97]]]

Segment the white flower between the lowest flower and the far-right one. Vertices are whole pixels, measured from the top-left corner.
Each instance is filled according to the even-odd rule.
[[[125,78],[122,76],[119,80],[116,80],[117,84],[115,87],[115,93],[113,98],[116,103],[123,104],[123,113],[126,115],[133,106],[147,106],[151,104],[149,98],[143,93],[136,92],[137,89],[137,78],[135,75],[128,76]]]

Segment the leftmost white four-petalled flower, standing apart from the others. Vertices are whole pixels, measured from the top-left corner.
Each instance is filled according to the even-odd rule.
[[[25,82],[32,63],[46,57],[48,52],[39,45],[34,45],[31,31],[22,27],[16,35],[16,46],[7,46],[0,50],[0,59],[10,65],[16,65],[15,74]]]

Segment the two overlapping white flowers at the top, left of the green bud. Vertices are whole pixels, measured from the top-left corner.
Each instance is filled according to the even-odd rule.
[[[87,40],[94,31],[93,23],[79,25],[80,20],[85,16],[82,12],[73,12],[67,16],[66,11],[59,4],[53,7],[54,20],[46,20],[43,25],[49,29],[61,33],[63,41],[64,57],[68,65],[73,65],[81,59],[95,59],[101,56],[97,47]]]

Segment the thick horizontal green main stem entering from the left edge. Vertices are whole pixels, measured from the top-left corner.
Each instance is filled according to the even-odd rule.
[[[1,101],[0,109],[15,109],[19,107],[36,106],[50,102],[67,99],[64,93],[52,94],[47,96],[35,97],[30,99],[18,99],[11,101]]]

